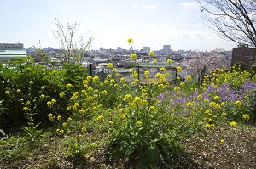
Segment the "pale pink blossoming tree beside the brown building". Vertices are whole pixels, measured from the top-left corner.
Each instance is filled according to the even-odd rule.
[[[214,49],[210,52],[194,51],[190,55],[189,68],[192,69],[197,78],[197,84],[202,84],[204,76],[207,76],[208,70],[217,68],[227,68],[226,59],[221,49]]]

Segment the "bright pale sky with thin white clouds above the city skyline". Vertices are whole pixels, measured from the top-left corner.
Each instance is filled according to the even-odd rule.
[[[236,47],[209,30],[195,0],[0,0],[0,42],[21,42],[25,48],[60,48],[53,36],[56,21],[78,23],[76,40],[95,37],[91,49],[150,47],[160,50],[211,50]]]

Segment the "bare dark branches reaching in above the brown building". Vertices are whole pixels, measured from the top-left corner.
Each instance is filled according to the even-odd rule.
[[[203,19],[220,37],[256,47],[256,0],[197,0]]]

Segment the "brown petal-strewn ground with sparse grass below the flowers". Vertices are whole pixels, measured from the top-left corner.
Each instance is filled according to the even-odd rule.
[[[183,140],[182,154],[174,156],[169,163],[161,162],[159,168],[255,168],[255,132],[255,126],[233,128],[226,125],[195,133]],[[107,143],[99,138],[99,132],[91,131],[84,137],[94,143],[90,145],[90,155],[75,160],[62,151],[66,149],[65,138],[54,137],[50,132],[44,132],[35,145],[22,138],[17,144],[17,136],[9,136],[1,141],[1,149],[9,149],[10,156],[1,153],[0,168],[131,168],[132,162],[127,159],[119,163],[106,161]],[[224,144],[220,143],[221,139]],[[16,150],[15,146],[18,146]]]

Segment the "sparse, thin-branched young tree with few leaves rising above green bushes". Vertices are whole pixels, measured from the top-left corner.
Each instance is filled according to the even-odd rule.
[[[82,64],[85,54],[88,53],[90,45],[94,37],[89,37],[87,42],[84,42],[84,37],[80,36],[78,42],[74,42],[74,34],[78,26],[67,23],[67,28],[60,24],[55,18],[57,30],[52,31],[56,39],[61,43],[61,54],[63,54],[65,63]]]

